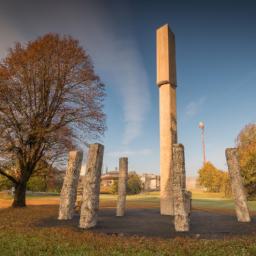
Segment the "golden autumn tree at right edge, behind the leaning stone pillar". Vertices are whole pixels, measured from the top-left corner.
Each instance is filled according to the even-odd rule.
[[[246,125],[236,139],[244,185],[249,196],[256,195],[256,124]]]

